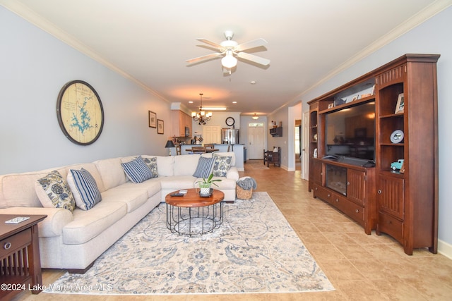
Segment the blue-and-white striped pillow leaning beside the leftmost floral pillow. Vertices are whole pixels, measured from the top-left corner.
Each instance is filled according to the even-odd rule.
[[[68,184],[76,205],[82,210],[89,210],[102,200],[96,180],[85,168],[71,169],[68,173]]]

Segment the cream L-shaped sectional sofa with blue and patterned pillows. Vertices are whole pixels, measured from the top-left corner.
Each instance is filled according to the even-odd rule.
[[[212,156],[215,159],[206,159]],[[138,183],[140,180],[131,178],[126,171],[127,166],[139,159],[148,164],[153,176],[141,183]],[[84,273],[102,252],[161,202],[165,202],[167,193],[195,188],[196,181],[201,180],[196,177],[199,176],[196,173],[200,172],[200,167],[206,168],[200,166],[201,161],[214,162],[216,165],[213,168],[221,168],[223,173],[218,173],[215,177],[222,179],[221,182],[216,182],[219,185],[217,189],[225,193],[225,201],[234,202],[239,173],[233,152],[180,156],[142,155],[2,175],[0,214],[47,214],[47,218],[38,224],[42,268]],[[142,166],[141,161],[138,163]],[[97,197],[100,202],[85,202],[82,206],[78,204],[84,202],[83,188],[86,188],[77,180],[81,171],[89,178],[84,183],[86,187],[93,185],[97,188],[94,190],[99,194]],[[55,174],[61,175],[61,185],[52,185],[50,176]],[[135,176],[139,178],[141,174],[138,172]],[[71,193],[77,206],[72,205],[73,208],[70,208],[71,204],[57,204],[55,201],[55,194],[59,201],[66,201],[69,199],[67,195]],[[90,196],[86,196],[89,199]]]

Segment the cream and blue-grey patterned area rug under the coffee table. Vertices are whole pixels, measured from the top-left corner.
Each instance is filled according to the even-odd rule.
[[[85,274],[65,274],[45,293],[225,294],[334,290],[267,192],[225,204],[220,228],[181,236],[165,204],[145,216]]]

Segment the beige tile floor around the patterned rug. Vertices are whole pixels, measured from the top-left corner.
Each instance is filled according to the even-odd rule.
[[[297,168],[299,169],[299,168]],[[355,222],[308,192],[301,171],[285,171],[262,161],[247,161],[241,176],[266,191],[299,234],[304,245],[335,286],[326,293],[87,296],[31,295],[15,300],[452,300],[452,260],[428,250],[412,256],[392,238],[366,235]],[[55,281],[64,271],[43,271],[43,283]]]

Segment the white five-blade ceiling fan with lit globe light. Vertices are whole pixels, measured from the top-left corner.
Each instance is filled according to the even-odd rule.
[[[263,59],[260,56],[255,56],[254,54],[244,52],[245,50],[248,49],[264,46],[265,44],[267,44],[267,41],[265,39],[259,38],[239,44],[232,40],[232,37],[234,37],[234,32],[229,30],[225,31],[225,37],[226,40],[221,42],[220,44],[211,42],[208,39],[196,39],[199,42],[208,44],[207,46],[208,48],[218,52],[215,54],[207,54],[205,56],[199,56],[194,59],[189,59],[186,60],[186,62],[189,64],[201,63],[203,61],[209,61],[211,59],[218,59],[220,58],[220,56],[222,56],[221,64],[223,67],[229,70],[237,66],[237,57],[239,57],[240,59],[258,63],[259,65],[263,66],[267,66],[270,63],[270,60],[268,59]],[[204,46],[206,47],[206,45]]]

